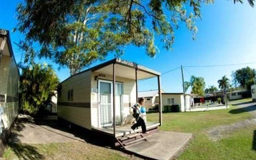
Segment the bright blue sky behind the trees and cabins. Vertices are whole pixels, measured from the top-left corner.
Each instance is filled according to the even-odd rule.
[[[15,9],[20,2],[22,1],[0,1],[0,10],[4,13],[0,15],[0,28],[12,30],[15,27],[17,24]],[[127,46],[125,54],[121,58],[161,73],[180,65],[200,66],[256,62],[256,8],[249,6],[246,0],[244,4],[216,0],[214,4],[202,5],[201,15],[202,19],[196,21],[199,29],[196,40],[192,40],[191,32],[181,25],[175,31],[173,51],[166,51],[159,47],[160,53],[155,58],[150,58],[145,54],[144,48]],[[12,46],[17,62],[20,62],[21,52],[14,42],[18,42],[22,38],[23,36],[19,32],[11,32]],[[160,42],[156,41],[156,45],[159,44]],[[106,57],[106,61],[112,58],[114,58],[113,55],[109,55]],[[41,60],[40,62],[52,64],[61,81],[69,76],[67,68],[58,71],[58,65],[51,61]],[[99,63],[101,62],[94,63],[92,66]],[[231,79],[232,71],[245,66],[256,68],[255,63],[239,66],[185,68],[184,79],[189,81],[191,75],[202,76],[206,81],[206,87],[217,86],[217,80],[222,76],[227,75]],[[161,84],[165,92],[182,92],[180,69],[162,75]],[[156,88],[155,78],[139,83],[140,91]]]

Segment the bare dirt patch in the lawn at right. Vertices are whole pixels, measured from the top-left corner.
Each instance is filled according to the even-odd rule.
[[[211,130],[207,130],[209,139],[212,141],[218,141],[223,137],[228,136],[234,130],[239,128],[246,128],[247,126],[254,125],[256,123],[256,119],[247,119],[241,122],[232,123],[229,125],[220,125],[212,128]]]

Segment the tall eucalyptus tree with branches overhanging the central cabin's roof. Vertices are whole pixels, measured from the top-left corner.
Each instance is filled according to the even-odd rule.
[[[255,0],[248,0],[251,6]],[[184,23],[195,39],[201,4],[214,0],[25,0],[17,6],[17,29],[25,35],[20,47],[25,62],[52,58],[71,74],[90,63],[116,56],[124,46],[144,47],[148,56],[161,47],[172,50],[175,30]],[[243,0],[234,0],[234,3]],[[187,9],[192,9],[187,13]],[[35,46],[39,48],[35,49]],[[160,47],[160,46],[159,46]],[[136,56],[136,55],[135,55]]]

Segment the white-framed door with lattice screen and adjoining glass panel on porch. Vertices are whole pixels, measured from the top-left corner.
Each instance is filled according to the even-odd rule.
[[[113,82],[99,80],[99,126],[108,127],[113,123]],[[123,107],[123,84],[116,83],[116,123],[121,123]]]

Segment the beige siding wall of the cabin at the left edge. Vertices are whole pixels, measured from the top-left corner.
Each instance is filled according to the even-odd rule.
[[[5,102],[0,102],[0,107],[3,109],[1,123],[6,129],[9,129],[18,115],[18,85],[19,74],[14,57],[2,55],[0,64],[0,94],[5,95]]]

